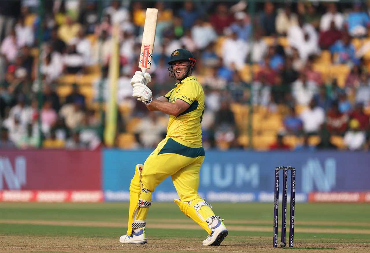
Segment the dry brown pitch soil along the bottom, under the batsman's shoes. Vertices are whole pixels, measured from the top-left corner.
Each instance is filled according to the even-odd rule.
[[[75,237],[0,236],[0,252],[276,252],[270,237],[231,236],[221,246],[201,246],[199,239],[152,239],[144,245],[123,245],[118,239]],[[244,242],[245,240],[245,242]],[[370,252],[370,245],[333,243],[296,243],[293,252],[347,253]],[[327,249],[302,249],[302,247]],[[335,249],[333,249],[335,248]],[[290,251],[288,251],[289,253]],[[292,253],[293,253],[292,252]]]

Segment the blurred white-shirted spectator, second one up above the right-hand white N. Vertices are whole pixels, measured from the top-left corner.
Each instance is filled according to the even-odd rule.
[[[304,73],[300,73],[298,79],[292,83],[292,96],[299,105],[308,105],[316,93],[317,84],[308,81]]]

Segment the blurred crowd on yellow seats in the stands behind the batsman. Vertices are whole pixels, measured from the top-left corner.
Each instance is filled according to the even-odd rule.
[[[54,0],[41,18],[39,4],[0,1],[0,148],[104,146],[114,25],[116,146],[157,146],[167,117],[149,113],[129,84],[145,10],[154,7],[149,86],[154,96],[167,93],[172,51],[194,53],[206,96],[205,148],[369,149],[370,6],[266,1],[252,13],[246,1]]]

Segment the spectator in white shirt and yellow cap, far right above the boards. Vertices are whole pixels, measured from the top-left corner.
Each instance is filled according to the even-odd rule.
[[[350,130],[344,134],[344,144],[349,150],[361,150],[366,142],[365,133],[360,131],[360,122],[352,119],[349,122]]]

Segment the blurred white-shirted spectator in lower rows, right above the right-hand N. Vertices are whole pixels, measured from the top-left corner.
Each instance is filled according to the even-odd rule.
[[[325,122],[325,111],[311,100],[309,107],[300,114],[300,119],[303,121],[303,130],[306,134],[317,134]]]

